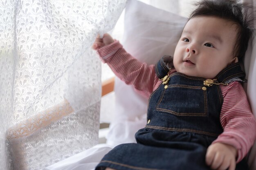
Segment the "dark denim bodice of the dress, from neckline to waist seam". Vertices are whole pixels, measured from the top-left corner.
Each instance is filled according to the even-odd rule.
[[[178,132],[194,132],[218,137],[223,129],[220,124],[222,95],[219,85],[202,90],[205,79],[170,75],[168,87],[161,84],[150,97],[147,128]]]

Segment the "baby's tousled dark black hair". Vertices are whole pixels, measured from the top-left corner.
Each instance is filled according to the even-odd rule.
[[[254,7],[238,3],[237,0],[202,0],[197,3],[189,20],[196,16],[213,16],[234,22],[238,26],[238,34],[234,46],[234,57],[242,58],[248,48],[249,40],[254,34]]]

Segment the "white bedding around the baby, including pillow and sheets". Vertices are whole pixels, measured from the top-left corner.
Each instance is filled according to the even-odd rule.
[[[128,2],[125,15],[124,37],[121,42],[126,51],[148,64],[155,64],[163,55],[173,55],[186,18],[136,0]],[[256,40],[247,50],[244,61],[248,79],[244,88],[254,114],[256,114],[255,58]],[[115,78],[114,91],[115,94],[112,95],[115,95],[115,109],[112,116],[115,119],[111,121],[106,144],[96,145],[43,170],[93,170],[111,148],[118,144],[135,142],[135,132],[146,124],[147,99],[118,78]],[[126,96],[125,99],[123,96]],[[248,157],[251,170],[256,170],[255,154],[256,145]]]

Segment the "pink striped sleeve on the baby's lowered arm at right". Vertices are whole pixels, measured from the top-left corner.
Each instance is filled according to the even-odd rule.
[[[224,99],[220,122],[224,131],[213,143],[221,142],[234,146],[238,151],[236,158],[238,163],[254,144],[256,121],[239,82],[220,87]]]

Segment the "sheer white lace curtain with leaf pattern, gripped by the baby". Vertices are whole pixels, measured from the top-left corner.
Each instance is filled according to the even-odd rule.
[[[0,170],[39,170],[97,144],[101,64],[90,46],[125,4],[0,2]]]

